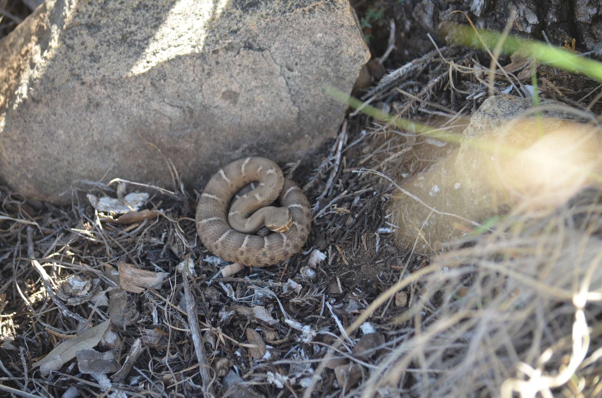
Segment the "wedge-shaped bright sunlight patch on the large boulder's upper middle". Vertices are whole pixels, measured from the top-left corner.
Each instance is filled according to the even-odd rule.
[[[140,75],[179,55],[199,53],[209,27],[219,19],[228,1],[217,0],[215,4],[197,0],[178,1],[127,76]]]

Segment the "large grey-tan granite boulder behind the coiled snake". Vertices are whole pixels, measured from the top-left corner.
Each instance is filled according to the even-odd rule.
[[[305,160],[344,117],[324,85],[368,58],[347,0],[47,0],[0,41],[0,176],[66,203],[75,180],[170,188],[166,158],[192,188]]]

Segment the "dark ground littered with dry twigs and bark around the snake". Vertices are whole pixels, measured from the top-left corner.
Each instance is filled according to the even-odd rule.
[[[17,19],[12,25],[5,22],[3,34],[28,13],[20,2],[14,4],[7,9]],[[489,66],[486,52],[446,46],[438,38],[435,49],[420,21],[407,14],[408,4],[403,1],[352,4],[373,54],[368,67],[370,82],[353,95],[362,101],[371,99],[375,108],[409,120],[430,126],[448,123],[449,132],[461,134],[486,98],[487,88],[473,73],[451,73],[442,57],[475,68]],[[393,41],[389,38],[391,21],[396,26]],[[392,43],[393,49],[380,63],[379,57]],[[507,57],[500,58],[502,65],[509,62]],[[379,84],[386,73],[403,66],[408,67],[399,78]],[[538,77],[544,96],[581,108],[600,91],[592,79],[557,73],[547,66],[538,67]],[[507,83],[500,78],[495,85],[501,90]],[[600,109],[599,102],[592,104],[595,114]],[[399,358],[387,362],[394,352],[411,352],[412,345],[404,345],[408,341],[424,344],[420,330],[426,331],[423,337],[430,336],[429,326],[443,318],[437,308],[447,303],[447,290],[441,286],[449,285],[445,280],[440,280],[440,285],[423,280],[433,267],[432,254],[412,241],[396,239],[403,225],[396,224],[390,204],[400,192],[388,179],[366,169],[402,183],[449,156],[457,146],[397,129],[350,108],[338,137],[321,153],[303,164],[282,165],[312,204],[314,219],[303,252],[284,264],[244,268],[229,277],[222,277],[219,270],[225,264],[198,240],[194,211],[199,192],[181,191],[177,184],[161,187],[176,192],[176,198],[156,191],[143,206],[159,211],[160,216],[116,224],[101,222],[85,196],[81,200],[74,196],[72,206],[57,207],[28,201],[1,187],[0,387],[6,388],[0,388],[0,396],[76,396],[69,395],[75,389],[84,397],[201,396],[203,390],[224,396],[229,388],[234,397],[302,397],[310,390],[314,397],[376,396],[376,390],[367,393],[365,386],[374,382],[370,375],[376,377],[377,367],[397,369],[382,373],[383,379],[393,380],[390,385],[397,387],[380,388],[379,396],[440,396],[438,392],[451,391],[437,390],[444,371],[425,366],[424,355],[412,357],[409,363]],[[120,176],[107,180],[115,177]],[[74,192],[114,197],[116,188],[74,186]],[[135,191],[135,186],[126,189]],[[324,259],[311,266],[312,252],[318,251]],[[476,256],[462,263],[468,265]],[[176,268],[187,259],[193,260],[196,275],[184,283]],[[92,304],[90,299],[96,293],[114,286],[110,268],[116,270],[120,262],[166,276],[160,286],[141,293],[122,292],[116,298],[116,291],[107,292],[110,300],[120,300],[120,308]],[[443,268],[452,267],[442,264]],[[74,275],[81,278],[78,281],[85,291],[66,288]],[[464,284],[453,293],[460,298],[481,281],[491,280],[491,275],[483,280],[474,279],[474,274],[470,278],[458,275]],[[400,286],[404,278],[408,282],[403,289],[387,296],[376,311],[347,333],[379,296]],[[45,286],[57,293],[49,295]],[[499,294],[500,286],[495,289]],[[199,369],[187,295],[196,302],[210,382],[203,380]],[[410,310],[417,304],[420,310]],[[75,337],[87,320],[102,325],[113,311],[122,317],[122,327],[113,326],[113,338],[105,335],[93,346],[101,352],[116,350],[119,367],[135,352],[129,372],[82,372],[73,360],[49,375],[33,367],[61,341]],[[599,320],[600,314],[595,314]],[[569,329],[572,315],[570,311],[562,314]],[[458,321],[459,325],[467,323],[470,321]],[[599,335],[592,333],[593,343]],[[140,341],[141,348],[136,351]],[[429,341],[433,347],[438,345],[436,339]],[[445,340],[439,358],[442,363],[459,357],[467,341],[465,336]],[[510,344],[506,349],[512,351],[508,347]],[[324,361],[326,357],[329,361]],[[321,372],[320,367],[326,369]],[[320,377],[314,379],[318,373]],[[489,376],[479,374],[480,380]],[[596,385],[600,384],[584,377],[589,390],[582,388],[579,394],[599,394]],[[425,387],[429,383],[433,387]],[[478,391],[468,387],[465,391],[470,391],[470,396],[492,395],[495,383],[483,383]]]

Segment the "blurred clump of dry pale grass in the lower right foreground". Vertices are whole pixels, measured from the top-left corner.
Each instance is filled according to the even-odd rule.
[[[547,215],[510,213],[433,259],[423,278],[402,279],[398,288],[422,285],[397,319],[414,330],[402,329],[360,396],[599,394],[600,196],[585,189]]]

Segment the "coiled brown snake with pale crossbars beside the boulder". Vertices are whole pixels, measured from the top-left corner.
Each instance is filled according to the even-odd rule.
[[[253,182],[256,188],[237,195]],[[270,206],[276,199],[282,207]],[[305,244],[310,224],[303,191],[284,178],[275,162],[257,156],[238,159],[214,174],[196,207],[196,230],[203,245],[223,260],[246,266],[289,259]],[[264,225],[271,232],[255,234]]]

